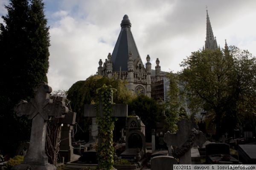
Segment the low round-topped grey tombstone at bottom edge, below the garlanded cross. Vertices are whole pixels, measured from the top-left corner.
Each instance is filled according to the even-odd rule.
[[[151,158],[151,170],[173,170],[177,160],[172,156],[155,156]]]

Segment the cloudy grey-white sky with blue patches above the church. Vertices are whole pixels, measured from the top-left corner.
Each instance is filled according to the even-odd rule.
[[[0,0],[0,15],[6,14]],[[152,68],[159,58],[163,71],[180,71],[191,52],[202,49],[206,37],[206,6],[217,43],[248,49],[256,55],[256,0],[44,0],[50,27],[48,84],[69,89],[96,74],[99,59],[113,52],[122,17],[143,62]],[[3,23],[3,20],[0,19]]]

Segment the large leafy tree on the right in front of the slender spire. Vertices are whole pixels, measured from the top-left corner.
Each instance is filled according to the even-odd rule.
[[[246,50],[231,46],[192,52],[181,66],[180,79],[189,108],[194,114],[207,110],[216,125],[217,138],[225,128],[233,132],[244,115],[255,114],[256,63]]]

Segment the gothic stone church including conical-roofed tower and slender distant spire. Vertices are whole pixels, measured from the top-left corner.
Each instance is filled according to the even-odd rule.
[[[165,75],[168,72],[161,71],[160,61],[157,58],[155,69],[151,69],[150,56],[146,56],[145,66],[141,60],[134,37],[131,33],[131,22],[127,15],[121,22],[121,32],[117,38],[112,55],[108,53],[108,59],[102,62],[99,60],[98,75],[108,76],[108,78],[120,78],[128,81],[128,89],[136,95],[147,95],[156,101],[164,100],[168,89],[168,80]],[[225,43],[225,48],[227,43]],[[212,32],[212,26],[207,11],[207,32],[205,49],[220,49],[217,45],[216,37]]]

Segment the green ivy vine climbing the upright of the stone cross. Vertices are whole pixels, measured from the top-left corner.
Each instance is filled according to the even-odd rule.
[[[111,85],[106,86],[105,84],[96,90],[99,102],[102,102],[102,108],[100,108],[99,102],[94,105],[99,136],[99,144],[96,146],[99,163],[97,169],[99,170],[111,170],[114,165],[113,129],[115,119],[112,115],[112,96],[115,90],[111,88]],[[102,109],[102,115],[100,115],[100,109]]]

